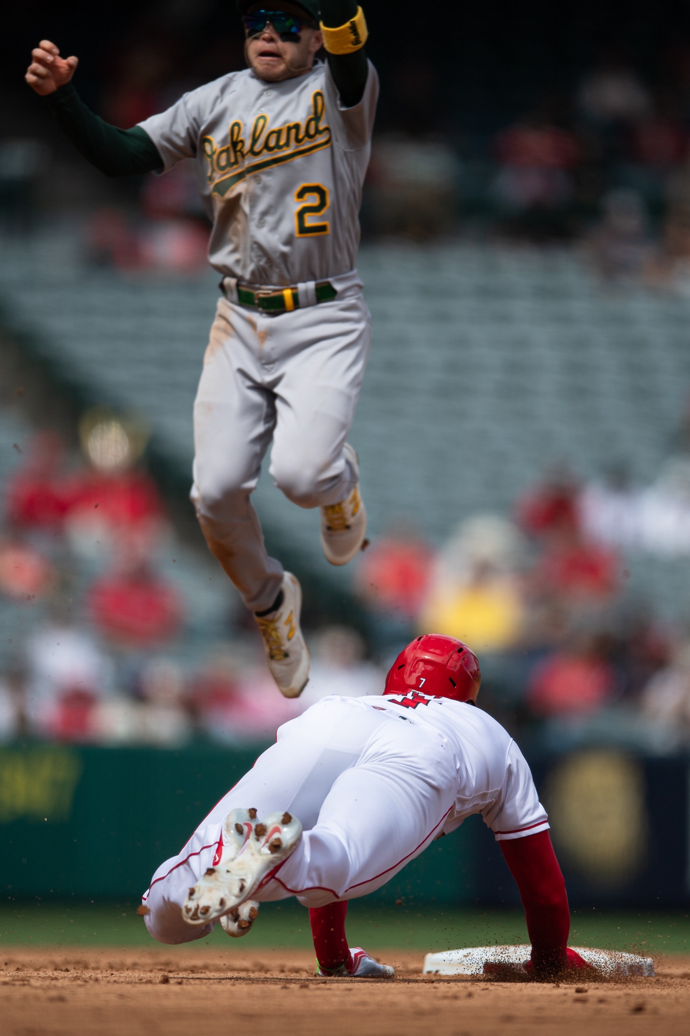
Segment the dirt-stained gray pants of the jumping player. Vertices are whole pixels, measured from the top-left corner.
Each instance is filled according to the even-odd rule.
[[[211,552],[251,611],[275,601],[282,566],[269,557],[250,494],[271,439],[269,472],[301,508],[337,503],[357,472],[342,448],[368,358],[371,318],[354,270],[337,297],[265,316],[218,300],[194,401],[191,500]],[[312,285],[300,285],[300,298]]]

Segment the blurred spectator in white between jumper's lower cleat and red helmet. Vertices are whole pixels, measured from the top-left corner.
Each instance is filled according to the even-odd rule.
[[[311,671],[300,701],[305,709],[329,694],[361,698],[382,694],[385,673],[364,661],[364,639],[357,630],[329,626],[310,639]]]

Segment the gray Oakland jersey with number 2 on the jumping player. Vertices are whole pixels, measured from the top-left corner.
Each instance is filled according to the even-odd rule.
[[[211,264],[223,276],[279,287],[353,269],[379,80],[342,108],[323,61],[267,83],[230,73],[141,122],[164,169],[196,157],[213,230]]]

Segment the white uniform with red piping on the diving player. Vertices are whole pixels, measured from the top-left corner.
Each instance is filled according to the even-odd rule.
[[[295,895],[306,906],[353,899],[385,885],[442,834],[481,813],[496,838],[548,828],[521,752],[487,713],[414,691],[323,698],[278,729],[275,745],[220,800],[143,896],[161,943],[202,939],[181,909],[217,863],[223,817],[288,810],[304,828],[297,850],[252,898]]]

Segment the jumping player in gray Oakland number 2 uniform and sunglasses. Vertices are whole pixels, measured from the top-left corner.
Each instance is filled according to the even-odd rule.
[[[321,509],[327,559],[346,565],[362,546],[366,513],[346,439],[370,341],[355,261],[379,87],[356,0],[238,7],[248,68],[131,130],[84,105],[70,82],[78,59],[50,40],[32,52],[26,80],[109,176],[196,159],[222,295],[194,403],[191,498],[256,616],[277,686],[296,697],[309,677],[301,589],[268,556],[250,494],[272,439],[270,472],[293,502]]]

